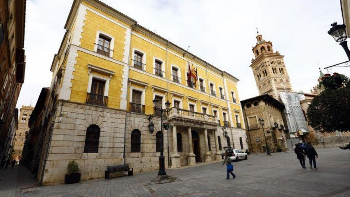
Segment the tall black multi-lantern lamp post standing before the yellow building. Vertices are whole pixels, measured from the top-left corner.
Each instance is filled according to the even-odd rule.
[[[162,109],[162,108],[158,108],[158,100],[157,99],[154,99],[153,100],[153,108],[154,108],[154,111],[160,111],[160,125],[161,125],[161,150],[160,150],[160,156],[159,156],[159,172],[158,172],[158,175],[159,176],[166,176],[167,173],[165,172],[165,157],[164,157],[164,145],[163,145],[163,127],[164,129],[168,129],[169,128],[169,124],[166,123],[163,125],[163,112],[166,112],[167,115],[168,115],[168,112],[169,112],[169,108],[170,108],[170,102],[167,101],[165,103],[165,106],[166,106],[166,109]]]

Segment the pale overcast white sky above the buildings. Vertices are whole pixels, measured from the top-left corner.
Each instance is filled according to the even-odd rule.
[[[35,106],[49,87],[72,0],[27,0],[26,76],[17,108]],[[310,92],[321,68],[347,60],[327,34],[343,23],[339,0],[103,0],[138,23],[237,77],[240,100],[258,95],[251,68],[256,27],[284,55],[294,91]],[[349,41],[350,42],[350,41]],[[350,75],[350,67],[330,72]],[[327,73],[327,70],[323,70]]]

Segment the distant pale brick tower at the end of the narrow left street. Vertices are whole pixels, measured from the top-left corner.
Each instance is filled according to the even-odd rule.
[[[22,157],[22,150],[24,142],[26,140],[26,131],[29,131],[28,120],[33,110],[34,107],[31,106],[22,106],[20,109],[20,115],[18,118],[18,130],[16,130],[15,144],[13,147],[13,157]]]

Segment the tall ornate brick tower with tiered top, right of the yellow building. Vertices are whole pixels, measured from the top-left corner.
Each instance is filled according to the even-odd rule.
[[[260,95],[269,94],[280,101],[279,92],[292,92],[287,68],[283,61],[283,55],[272,49],[272,43],[257,35],[257,44],[253,47],[255,59],[252,59],[250,67],[253,70],[255,82]]]

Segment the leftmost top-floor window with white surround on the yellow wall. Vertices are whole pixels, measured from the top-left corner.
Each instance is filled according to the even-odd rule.
[[[114,37],[104,32],[97,31],[94,51],[108,57],[113,57],[113,48]]]

